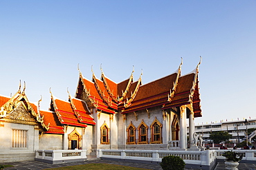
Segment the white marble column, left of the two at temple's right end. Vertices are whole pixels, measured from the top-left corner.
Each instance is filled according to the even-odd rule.
[[[180,107],[181,109],[181,113],[180,113],[180,148],[181,149],[185,149],[186,146],[186,134],[185,134],[185,129],[187,128],[186,125],[185,125],[185,114],[186,114],[186,106],[183,105]]]

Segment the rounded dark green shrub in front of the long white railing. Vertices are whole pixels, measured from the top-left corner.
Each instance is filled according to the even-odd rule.
[[[185,162],[179,156],[165,156],[160,165],[163,170],[183,170],[185,168]]]

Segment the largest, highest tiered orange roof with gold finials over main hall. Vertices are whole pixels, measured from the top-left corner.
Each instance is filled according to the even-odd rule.
[[[89,107],[95,107],[109,114],[118,111],[127,114],[155,106],[169,109],[191,105],[190,109],[193,109],[194,116],[200,117],[199,65],[194,72],[184,76],[181,76],[181,65],[173,74],[145,85],[141,83],[141,75],[139,80],[134,82],[134,71],[127,80],[120,83],[111,81],[103,72],[100,79],[93,74],[92,81],[89,81],[80,72],[76,97],[84,100]]]

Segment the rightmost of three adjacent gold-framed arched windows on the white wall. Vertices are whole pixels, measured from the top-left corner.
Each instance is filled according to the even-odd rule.
[[[155,118],[150,126],[151,128],[151,141],[150,143],[162,143],[162,124]]]

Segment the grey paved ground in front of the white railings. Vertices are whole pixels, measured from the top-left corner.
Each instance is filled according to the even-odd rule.
[[[12,169],[12,170],[41,170],[46,168],[55,168],[55,167],[66,167],[72,166],[77,164],[90,164],[90,163],[107,163],[107,164],[120,164],[128,167],[138,167],[138,168],[145,168],[145,169],[154,169],[160,170],[161,166],[159,164],[143,164],[143,163],[134,163],[134,162],[123,162],[123,161],[115,161],[115,160],[87,160],[85,162],[72,162],[72,163],[64,163],[64,164],[47,164],[44,162],[37,162],[37,161],[24,161],[24,162],[8,162],[2,164],[12,164],[14,167],[8,167],[4,170]],[[223,170],[225,169],[224,162],[218,162],[217,167],[214,170]],[[256,169],[256,162],[255,164],[245,164],[240,163],[239,170],[255,170]]]

